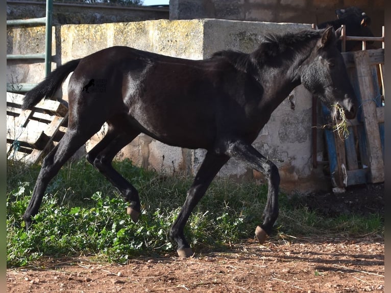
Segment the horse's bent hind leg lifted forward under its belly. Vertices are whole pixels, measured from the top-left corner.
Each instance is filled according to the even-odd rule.
[[[87,160],[118,188],[125,200],[129,202],[128,214],[133,222],[137,222],[141,211],[138,191],[113,168],[111,162],[115,155],[138,134],[138,131],[128,129],[125,133],[109,126],[105,137],[87,154]]]

